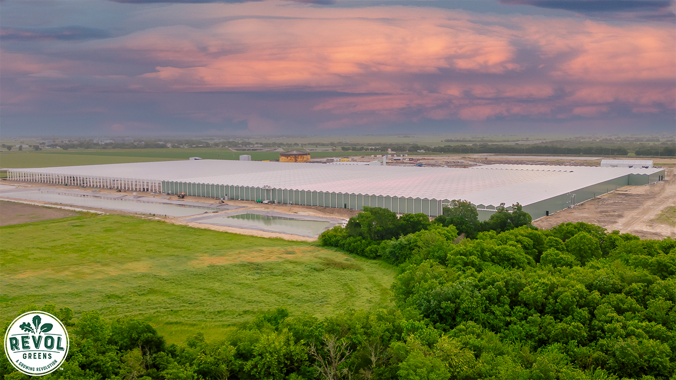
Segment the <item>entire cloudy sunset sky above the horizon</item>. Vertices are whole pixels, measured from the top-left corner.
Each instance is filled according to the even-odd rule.
[[[673,1],[0,9],[5,137],[675,129]]]

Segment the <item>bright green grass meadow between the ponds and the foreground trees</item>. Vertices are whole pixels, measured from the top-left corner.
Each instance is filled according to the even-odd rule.
[[[312,243],[76,216],[0,228],[1,320],[53,303],[132,316],[170,342],[277,307],[316,316],[389,302],[393,266]]]

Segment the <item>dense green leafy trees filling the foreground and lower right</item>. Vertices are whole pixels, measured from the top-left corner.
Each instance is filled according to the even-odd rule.
[[[365,208],[319,244],[396,265],[391,306],[279,308],[167,344],[141,320],[28,305],[69,330],[45,379],[674,379],[673,239],[539,230],[518,205],[481,222],[456,200],[434,220]],[[12,370],[2,356],[0,375],[27,378]]]

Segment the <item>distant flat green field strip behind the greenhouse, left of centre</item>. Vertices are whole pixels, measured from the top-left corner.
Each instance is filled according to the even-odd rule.
[[[122,164],[126,162],[150,162],[187,160],[201,157],[208,160],[239,160],[248,154],[251,160],[277,160],[278,151],[231,151],[225,148],[173,148],[173,149],[54,149],[51,151],[9,151],[0,153],[1,168],[46,168],[49,166],[76,166],[97,164]],[[370,156],[383,154],[373,151],[313,151],[312,158]],[[423,153],[410,153],[416,156]],[[435,154],[435,153],[426,153]],[[436,153],[438,154],[438,153]]]

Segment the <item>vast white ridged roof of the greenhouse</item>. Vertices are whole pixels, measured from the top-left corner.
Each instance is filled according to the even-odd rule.
[[[433,168],[183,160],[9,170],[439,200],[466,199],[485,206],[501,203],[509,206],[518,202],[526,206],[627,174],[653,174],[662,169],[509,164]]]

